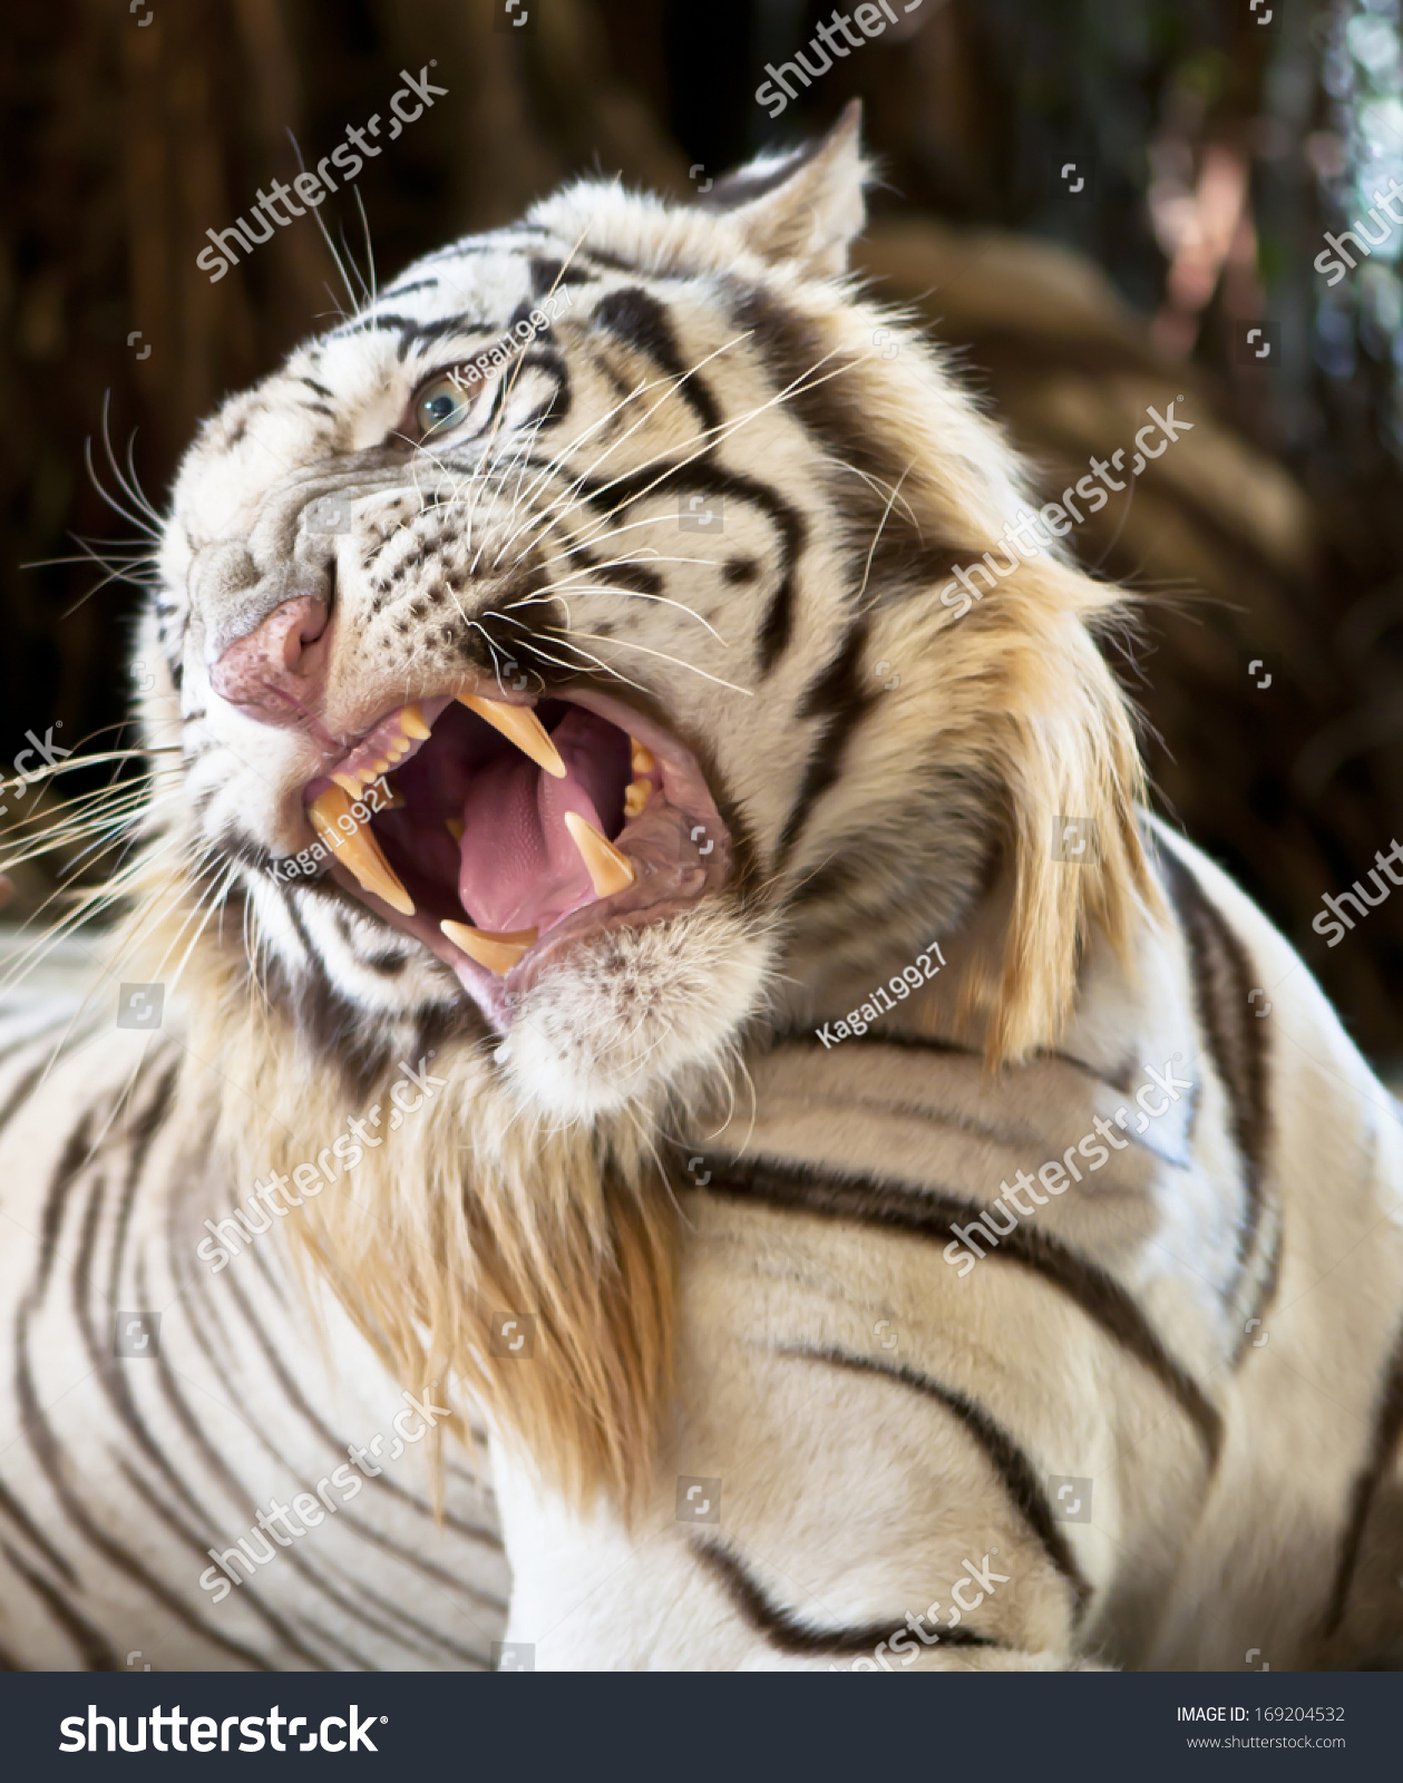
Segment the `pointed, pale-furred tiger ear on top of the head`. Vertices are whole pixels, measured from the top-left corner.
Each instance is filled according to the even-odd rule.
[[[861,128],[863,102],[850,100],[827,136],[784,155],[759,155],[697,203],[724,210],[765,260],[797,262],[813,278],[845,273],[849,246],[866,221]]]

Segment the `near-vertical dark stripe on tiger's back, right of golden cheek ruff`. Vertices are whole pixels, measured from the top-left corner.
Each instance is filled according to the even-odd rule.
[[[1251,957],[1223,913],[1171,849],[1155,847],[1153,859],[1184,929],[1198,1023],[1228,1097],[1232,1141],[1243,1159],[1244,1207],[1237,1232],[1237,1275],[1228,1293],[1228,1302],[1234,1302],[1262,1227],[1266,1159],[1271,1145],[1268,1023],[1248,1002],[1248,993],[1255,988]],[[1269,1296],[1259,1294],[1259,1303],[1253,1307],[1257,1318],[1264,1314],[1268,1303]],[[1246,1332],[1237,1339],[1234,1360],[1241,1359],[1244,1348]]]

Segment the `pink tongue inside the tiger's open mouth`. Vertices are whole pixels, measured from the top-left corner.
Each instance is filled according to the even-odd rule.
[[[594,899],[565,813],[578,811],[599,831],[604,826],[563,754],[565,779],[542,774],[526,756],[506,756],[472,779],[458,897],[478,929],[546,929]]]

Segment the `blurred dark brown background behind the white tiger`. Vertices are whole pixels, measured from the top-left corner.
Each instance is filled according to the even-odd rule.
[[[1287,931],[1357,1039],[1403,1059],[1403,899],[1335,949],[1310,929],[1403,838],[1403,226],[1333,285],[1328,255],[1316,269],[1325,232],[1403,175],[1398,0],[904,4],[774,121],[765,64],[808,50],[833,7],[12,11],[0,772],[29,729],[102,742],[125,717],[137,590],[91,562],[21,567],[75,555],[73,535],[137,537],[84,467],[103,407],[160,508],[194,423],[346,301],[312,218],[214,285],[194,266],[207,228],[296,175],[291,136],[314,164],[435,59],[447,96],[355,182],[385,280],[570,173],[685,198],[861,94],[882,168],[863,266],[959,349],[1048,494],[1128,449],[1150,405],[1194,423],[1075,533],[1141,601],[1116,660],[1157,802]],[[364,267],[351,191],[321,216]],[[14,874],[7,915],[43,874]]]

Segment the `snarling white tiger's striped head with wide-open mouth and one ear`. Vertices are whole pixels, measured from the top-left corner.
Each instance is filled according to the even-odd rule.
[[[856,137],[706,209],[567,189],[203,426],[148,731],[251,970],[342,1064],[449,1036],[538,1113],[656,1104],[997,875],[1009,726],[1055,733],[1048,633],[1095,597],[1048,563],[959,628],[938,601],[1018,480],[841,278]]]

